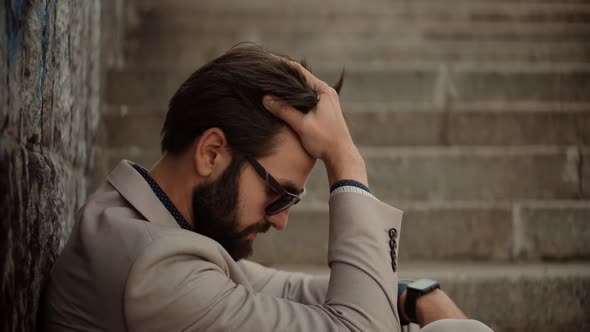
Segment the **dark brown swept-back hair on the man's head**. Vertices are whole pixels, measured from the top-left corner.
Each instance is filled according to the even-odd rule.
[[[286,124],[262,105],[270,94],[302,113],[315,109],[318,92],[279,56],[253,44],[237,45],[205,64],[182,83],[168,105],[162,152],[184,152],[209,128],[220,128],[232,151],[254,157],[271,153]],[[307,68],[305,61],[301,64]],[[343,73],[334,86],[340,91]]]

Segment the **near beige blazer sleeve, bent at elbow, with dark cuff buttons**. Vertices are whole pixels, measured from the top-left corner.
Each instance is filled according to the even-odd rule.
[[[399,331],[397,241],[402,212],[374,198],[330,199],[326,297],[303,304],[236,284],[190,241],[154,241],[125,289],[130,331]],[[213,250],[213,249],[212,249]],[[392,262],[392,258],[394,261]],[[393,264],[392,264],[393,263]],[[393,267],[393,268],[392,268]]]

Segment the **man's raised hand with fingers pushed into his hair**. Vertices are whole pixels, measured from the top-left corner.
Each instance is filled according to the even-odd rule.
[[[285,60],[288,61],[288,60]],[[303,148],[326,165],[330,186],[338,180],[356,180],[368,185],[365,163],[346,126],[336,91],[300,64],[290,61],[319,92],[317,109],[308,114],[294,109],[274,96],[262,102],[272,114],[284,120],[299,136]]]

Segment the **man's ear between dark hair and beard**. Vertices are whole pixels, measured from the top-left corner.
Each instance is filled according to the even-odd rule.
[[[194,166],[199,176],[221,173],[231,161],[225,134],[219,128],[209,128],[196,142]]]

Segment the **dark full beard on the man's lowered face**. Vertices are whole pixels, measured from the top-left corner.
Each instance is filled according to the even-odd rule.
[[[195,232],[217,241],[230,256],[238,261],[252,255],[253,232],[264,233],[270,224],[260,221],[239,231],[238,196],[243,159],[234,156],[232,162],[211,183],[203,183],[193,190],[193,220]]]

